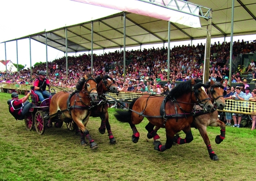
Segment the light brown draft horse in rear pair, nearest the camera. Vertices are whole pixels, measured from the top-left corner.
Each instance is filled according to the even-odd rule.
[[[49,108],[49,122],[48,127],[52,126],[53,118],[57,117],[59,121],[63,122],[65,119],[73,119],[81,131],[81,142],[88,138],[91,149],[98,148],[85,128],[89,121],[91,112],[91,101],[97,101],[97,82],[91,75],[85,77],[76,85],[76,91],[64,92],[60,91],[55,94],[51,99]],[[51,117],[51,115],[53,115]]]

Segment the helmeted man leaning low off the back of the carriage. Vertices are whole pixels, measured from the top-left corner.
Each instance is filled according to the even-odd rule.
[[[23,120],[27,112],[29,112],[29,108],[32,106],[32,102],[27,101],[28,97],[30,96],[30,92],[27,96],[19,99],[18,94],[13,92],[11,94],[11,98],[7,101],[9,105],[9,112],[16,120]]]

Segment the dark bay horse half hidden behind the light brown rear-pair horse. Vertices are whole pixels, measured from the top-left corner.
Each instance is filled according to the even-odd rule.
[[[115,80],[113,80],[108,75],[99,75],[95,78],[98,83],[97,93],[99,95],[99,104],[93,106],[91,108],[91,117],[100,117],[101,118],[101,127],[99,128],[99,132],[104,134],[107,128],[108,138],[110,144],[116,144],[116,139],[114,138],[111,126],[108,120],[108,104],[106,96],[104,95],[107,92],[118,93],[117,86],[115,85]],[[86,144],[86,143],[83,143]]]

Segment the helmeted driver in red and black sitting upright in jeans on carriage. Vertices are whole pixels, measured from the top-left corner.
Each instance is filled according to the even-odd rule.
[[[46,85],[50,88],[50,82],[48,79],[45,78],[46,73],[41,70],[39,72],[39,77],[34,82],[34,91],[38,95],[40,101],[44,100],[43,96],[47,96],[48,98],[51,96],[51,94],[46,90]]]

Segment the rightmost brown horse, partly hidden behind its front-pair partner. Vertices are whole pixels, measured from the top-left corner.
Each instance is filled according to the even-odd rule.
[[[212,160],[219,160],[218,156],[214,153],[211,142],[209,140],[208,134],[207,134],[207,127],[220,127],[220,135],[217,135],[215,138],[215,143],[220,144],[223,139],[225,138],[225,132],[226,132],[226,126],[224,122],[220,121],[218,118],[218,111],[216,111],[216,108],[219,110],[224,109],[226,106],[224,95],[226,94],[226,91],[224,91],[224,86],[222,85],[222,82],[213,82],[213,80],[207,82],[206,87],[208,89],[208,96],[211,98],[211,101],[213,103],[213,110],[209,113],[203,113],[198,112],[195,115],[195,120],[192,123],[192,128],[197,128],[199,133],[201,134],[204,143],[207,146],[209,156]],[[199,116],[197,116],[199,115]],[[187,143],[185,139],[179,138],[177,135],[175,138],[175,142],[177,144],[185,144]]]

